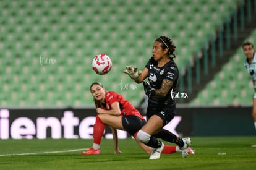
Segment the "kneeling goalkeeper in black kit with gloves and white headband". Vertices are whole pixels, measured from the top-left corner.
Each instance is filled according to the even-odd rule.
[[[175,93],[179,70],[173,58],[176,46],[168,36],[160,36],[153,43],[152,57],[141,71],[137,67],[127,66],[124,73],[137,83],[143,83],[145,94],[148,95],[147,123],[143,125],[135,137],[142,143],[153,148],[150,159],[159,159],[164,144],[157,140],[176,143],[182,151],[182,157],[188,155],[190,138],[179,138],[163,129],[176,114],[176,103],[171,96]],[[173,56],[173,57],[171,57]],[[144,82],[148,78],[150,83]]]

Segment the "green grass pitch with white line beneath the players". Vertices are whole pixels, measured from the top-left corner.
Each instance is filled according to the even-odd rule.
[[[80,155],[93,140],[0,140],[0,169],[256,169],[256,137],[192,137],[195,155],[149,160],[132,139],[103,139],[101,155]],[[164,142],[166,145],[170,144]]]

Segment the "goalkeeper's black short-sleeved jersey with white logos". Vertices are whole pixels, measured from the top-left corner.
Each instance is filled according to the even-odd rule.
[[[175,62],[171,60],[163,67],[158,67],[158,61],[155,61],[153,57],[151,57],[145,67],[148,69],[148,80],[151,88],[155,90],[160,89],[164,79],[173,82],[173,87],[171,87],[168,95],[164,98],[151,96],[148,99],[148,111],[159,111],[166,107],[175,108],[174,94],[176,93],[176,85],[179,78],[179,70]]]

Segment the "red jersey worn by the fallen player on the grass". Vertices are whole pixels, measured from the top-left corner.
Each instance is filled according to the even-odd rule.
[[[129,103],[123,96],[119,95],[114,91],[108,91],[105,94],[105,102],[106,106],[103,107],[105,110],[111,110],[111,104],[114,102],[118,102],[121,110],[121,116],[124,115],[134,115],[140,117],[140,119],[144,119],[140,112]]]

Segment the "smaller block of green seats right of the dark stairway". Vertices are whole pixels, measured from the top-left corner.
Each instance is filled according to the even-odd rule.
[[[256,30],[245,41],[255,41]],[[229,62],[225,64],[220,72],[216,74],[212,82],[216,87],[210,87],[210,83],[198,94],[197,98],[190,104],[211,104],[202,95],[203,91],[216,91],[216,105],[251,105],[254,88],[252,80],[244,67],[245,56],[242,48],[237,49]],[[234,74],[235,73],[235,74]],[[222,90],[220,90],[222,88]],[[209,94],[210,95],[210,94]]]

